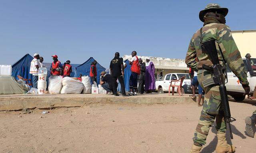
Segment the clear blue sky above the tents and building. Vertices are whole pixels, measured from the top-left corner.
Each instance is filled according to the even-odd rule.
[[[57,54],[64,63],[94,57],[104,67],[116,51],[184,59],[199,11],[215,2],[229,8],[232,30],[256,29],[252,0],[1,0],[0,64],[26,53],[45,62]]]

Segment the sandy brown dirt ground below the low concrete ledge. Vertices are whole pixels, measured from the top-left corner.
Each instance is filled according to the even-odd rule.
[[[236,153],[255,153],[244,133],[255,104],[230,102]],[[1,153],[188,153],[202,107],[196,104],[92,105],[48,114],[0,112]],[[213,126],[214,127],[214,126]],[[202,153],[215,152],[212,128]]]

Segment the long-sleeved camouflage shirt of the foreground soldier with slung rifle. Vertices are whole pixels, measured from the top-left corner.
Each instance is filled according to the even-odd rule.
[[[223,65],[223,59],[220,53],[221,49],[224,59],[232,72],[236,75],[236,77],[239,78],[242,84],[249,84],[246,78],[247,76],[244,62],[231,35],[230,28],[225,24],[206,24],[202,28],[202,37],[202,42],[215,39],[218,42],[216,42],[216,49],[218,51],[220,64]],[[202,68],[203,64],[208,66],[213,65],[209,59],[209,56],[206,53],[202,53],[200,38],[201,34],[199,29],[196,31],[196,33],[194,33],[188,46],[188,52],[186,55],[185,62],[188,67],[191,67],[193,70]],[[196,57],[198,57],[199,62],[195,61]]]

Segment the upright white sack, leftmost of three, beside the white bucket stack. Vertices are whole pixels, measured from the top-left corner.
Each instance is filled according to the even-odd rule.
[[[51,76],[49,78],[48,92],[50,94],[60,94],[61,89],[62,89],[62,77]]]

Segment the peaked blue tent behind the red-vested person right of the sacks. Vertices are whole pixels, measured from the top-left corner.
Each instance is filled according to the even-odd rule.
[[[79,65],[78,67],[75,68],[74,72],[74,77],[79,77],[80,74],[83,76],[89,76],[90,75],[90,68],[91,68],[91,63],[94,61],[93,57],[90,57],[86,62],[83,64]],[[97,83],[99,84],[100,82],[100,73],[102,71],[105,71],[106,69],[102,67],[99,63],[96,65],[97,68]]]

